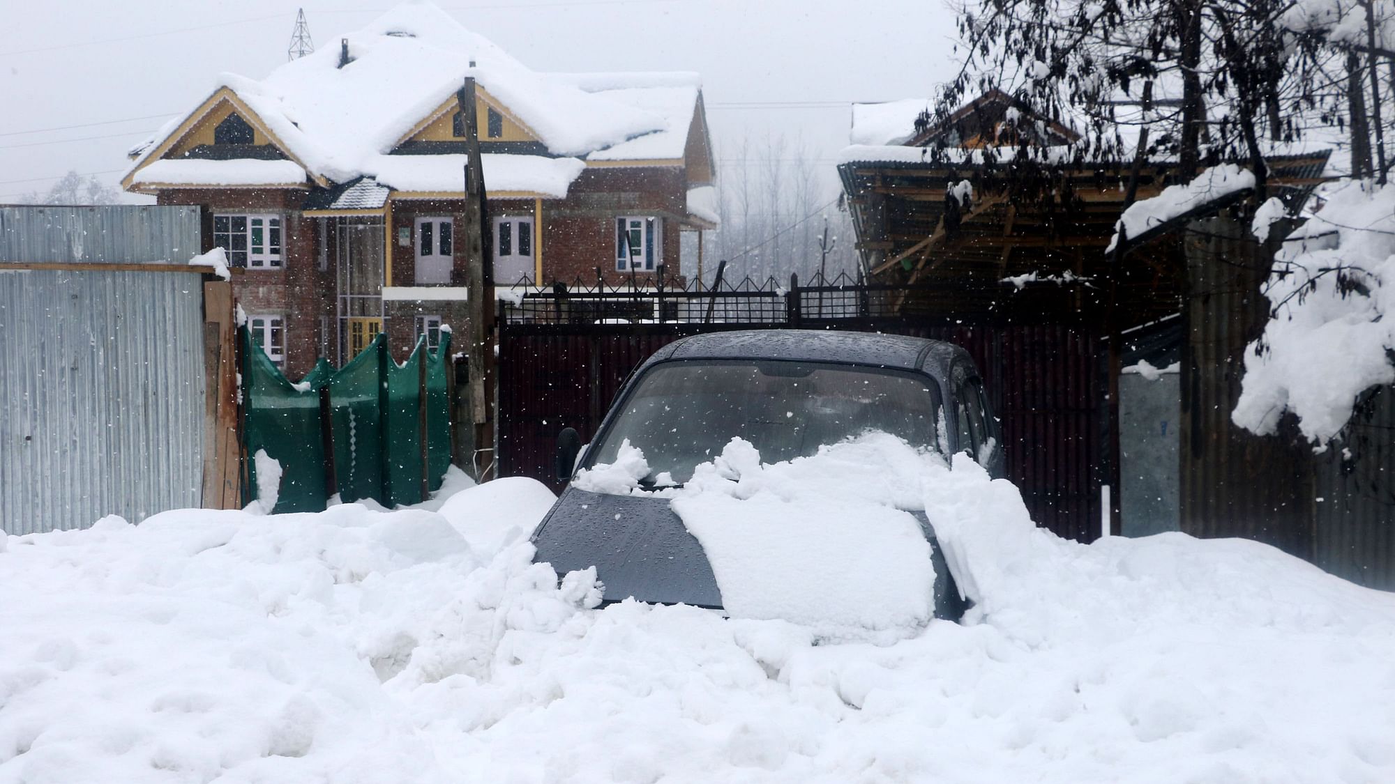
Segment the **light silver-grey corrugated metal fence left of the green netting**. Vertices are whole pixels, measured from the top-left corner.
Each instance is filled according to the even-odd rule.
[[[0,208],[0,264],[183,264],[194,208]],[[198,506],[202,276],[0,271],[0,526]]]

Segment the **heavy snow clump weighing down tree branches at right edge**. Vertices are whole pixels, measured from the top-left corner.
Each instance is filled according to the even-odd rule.
[[[1275,255],[1272,317],[1244,356],[1232,419],[1260,435],[1293,412],[1324,445],[1357,395],[1395,382],[1395,186],[1345,180]]]

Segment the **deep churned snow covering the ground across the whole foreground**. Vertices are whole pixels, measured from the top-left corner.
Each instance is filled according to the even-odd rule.
[[[741,526],[759,472],[764,520],[837,459],[674,501]],[[976,607],[884,644],[596,608],[530,562],[530,480],[0,537],[0,781],[1395,780],[1395,597],[1247,541],[1063,541],[967,459],[901,469]]]

